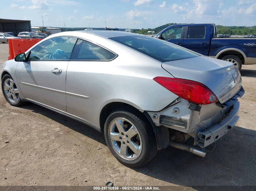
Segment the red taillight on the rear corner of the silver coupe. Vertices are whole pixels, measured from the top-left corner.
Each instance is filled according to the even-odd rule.
[[[192,103],[206,105],[218,101],[209,88],[196,81],[167,77],[155,77],[153,80],[172,93]]]

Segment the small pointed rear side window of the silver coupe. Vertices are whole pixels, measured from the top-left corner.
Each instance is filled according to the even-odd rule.
[[[111,60],[115,57],[115,54],[100,46],[78,39],[71,60]]]

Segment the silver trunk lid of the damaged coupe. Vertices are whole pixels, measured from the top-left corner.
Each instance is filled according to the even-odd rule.
[[[220,103],[237,94],[242,84],[240,72],[233,63],[206,56],[163,62],[162,67],[175,78],[206,85]]]

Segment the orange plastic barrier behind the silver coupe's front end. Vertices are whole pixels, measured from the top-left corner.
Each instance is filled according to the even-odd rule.
[[[9,57],[8,60],[14,59],[18,54],[25,53],[29,48],[42,39],[9,39]]]

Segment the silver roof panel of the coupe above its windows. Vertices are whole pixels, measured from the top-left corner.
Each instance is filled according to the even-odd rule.
[[[115,31],[115,30],[79,30],[81,33],[91,33],[101,37],[113,38],[113,37],[124,37],[124,36],[141,36],[141,34],[137,33],[128,33],[123,31]]]

